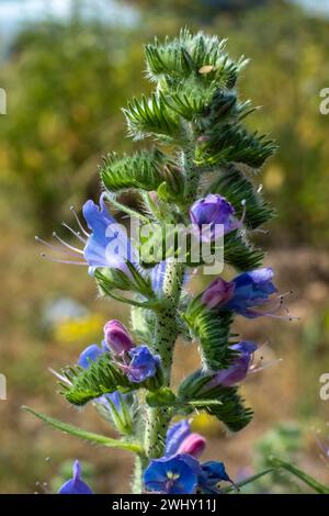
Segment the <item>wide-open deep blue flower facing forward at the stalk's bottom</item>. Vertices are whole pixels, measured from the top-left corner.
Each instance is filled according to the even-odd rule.
[[[201,468],[188,455],[151,460],[144,472],[147,492],[163,494],[193,494],[196,492]]]

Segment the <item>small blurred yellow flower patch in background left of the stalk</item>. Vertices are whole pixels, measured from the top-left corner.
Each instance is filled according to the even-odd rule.
[[[92,343],[102,339],[104,316],[100,314],[67,318],[55,326],[56,340],[63,344]]]

